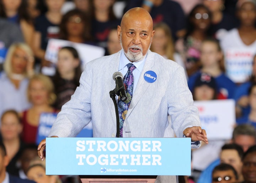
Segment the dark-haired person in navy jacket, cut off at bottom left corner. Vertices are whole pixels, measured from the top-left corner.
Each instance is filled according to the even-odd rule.
[[[5,146],[2,142],[0,142],[0,182],[2,183],[34,183],[34,181],[30,181],[27,179],[21,179],[16,176],[10,175],[6,171],[6,166],[9,163],[9,158],[6,154]]]

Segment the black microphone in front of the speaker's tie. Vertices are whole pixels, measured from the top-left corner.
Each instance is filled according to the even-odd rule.
[[[116,81],[116,88],[114,89],[116,95],[120,96],[120,99],[122,101],[126,101],[127,96],[126,96],[126,90],[123,84],[123,74],[120,72],[115,72],[113,74],[113,80]]]

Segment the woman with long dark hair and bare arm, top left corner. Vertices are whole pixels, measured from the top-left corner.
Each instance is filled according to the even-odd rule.
[[[21,28],[25,42],[32,46],[34,26],[28,13],[27,0],[0,0],[0,17],[17,23]]]

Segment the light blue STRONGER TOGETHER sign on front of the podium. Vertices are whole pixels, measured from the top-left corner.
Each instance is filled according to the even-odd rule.
[[[46,138],[47,175],[191,175],[191,138]]]

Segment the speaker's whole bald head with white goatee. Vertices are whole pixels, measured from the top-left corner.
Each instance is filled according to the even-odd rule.
[[[155,31],[148,11],[136,7],[128,10],[117,26],[118,38],[130,62],[139,62],[149,50]]]

